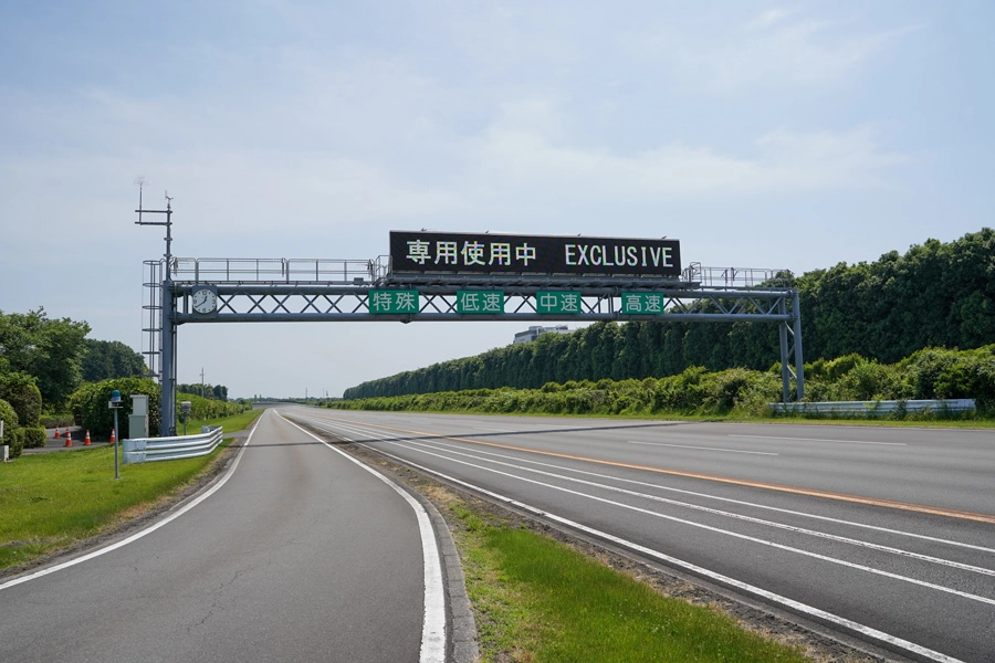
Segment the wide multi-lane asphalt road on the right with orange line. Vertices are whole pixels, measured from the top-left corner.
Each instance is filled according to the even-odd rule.
[[[285,410],[898,660],[995,662],[995,434]]]

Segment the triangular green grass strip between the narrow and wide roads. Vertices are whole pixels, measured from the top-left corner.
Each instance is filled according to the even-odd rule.
[[[659,594],[557,541],[453,512],[484,662],[789,663],[796,649]]]

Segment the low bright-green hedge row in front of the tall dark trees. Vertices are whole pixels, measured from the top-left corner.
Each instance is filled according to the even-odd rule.
[[[995,345],[976,350],[925,349],[893,365],[859,355],[806,365],[806,401],[973,398],[995,415]],[[547,382],[541,389],[468,389],[336,400],[329,408],[531,412],[551,414],[769,414],[781,400],[781,366],[768,371],[702,367],[645,380]],[[911,415],[910,415],[911,417]]]

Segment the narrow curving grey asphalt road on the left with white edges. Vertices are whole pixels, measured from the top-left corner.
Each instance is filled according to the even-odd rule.
[[[144,536],[0,581],[0,661],[444,659],[410,496],[274,411],[232,470]]]

